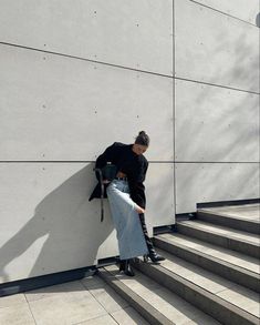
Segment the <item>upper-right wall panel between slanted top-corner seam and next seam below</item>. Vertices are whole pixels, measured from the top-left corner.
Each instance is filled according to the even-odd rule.
[[[259,92],[259,29],[175,1],[176,77]]]

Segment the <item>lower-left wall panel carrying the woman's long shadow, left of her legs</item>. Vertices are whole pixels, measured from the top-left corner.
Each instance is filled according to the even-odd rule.
[[[15,195],[15,203],[8,207],[8,212],[17,222],[4,223],[0,232],[1,282],[18,276],[13,274],[13,268],[19,270],[20,278],[25,278],[94,265],[97,255],[102,257],[102,245],[107,245],[105,256],[117,255],[117,250],[112,244],[115,234],[106,241],[113,232],[108,210],[106,209],[105,220],[101,223],[97,202],[89,202],[90,183],[94,185],[93,164],[73,167],[79,171],[48,193],[35,205],[33,215],[29,212],[33,212],[33,202],[43,194],[43,191],[53,186],[59,176],[64,175],[61,170],[64,171],[66,166],[22,164],[21,167],[23,175],[28,176],[28,182],[17,183],[15,190],[12,190],[15,193],[9,191],[10,196]],[[30,175],[35,172],[38,180]],[[19,181],[15,166],[12,174],[2,177],[11,187],[13,181]],[[32,185],[30,192],[29,184]],[[8,205],[8,202],[3,203]],[[19,211],[24,212],[24,209],[28,211],[27,220],[21,220]],[[3,213],[3,210],[1,212]]]

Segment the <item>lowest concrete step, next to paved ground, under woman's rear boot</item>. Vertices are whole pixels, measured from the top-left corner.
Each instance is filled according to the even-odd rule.
[[[150,277],[135,273],[134,277],[125,276],[114,265],[98,272],[149,324],[220,324]]]

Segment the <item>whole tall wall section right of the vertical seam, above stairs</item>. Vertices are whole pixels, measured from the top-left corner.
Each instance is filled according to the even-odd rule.
[[[259,1],[175,0],[176,213],[259,197]]]

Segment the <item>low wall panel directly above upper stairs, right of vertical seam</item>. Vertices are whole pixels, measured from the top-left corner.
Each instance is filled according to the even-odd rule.
[[[259,197],[257,163],[176,163],[176,213],[197,203]]]

